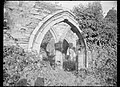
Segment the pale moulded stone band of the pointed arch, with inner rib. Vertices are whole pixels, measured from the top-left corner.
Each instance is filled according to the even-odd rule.
[[[28,51],[35,50],[39,54],[42,40],[43,40],[45,34],[48,32],[48,30],[50,30],[50,32],[52,33],[53,38],[55,39],[55,42],[58,42],[57,35],[54,32],[54,30],[52,29],[52,26],[57,24],[57,23],[60,23],[60,22],[66,22],[66,20],[67,20],[68,24],[70,24],[72,27],[77,29],[77,32],[79,32],[78,36],[80,38],[82,38],[82,36],[81,36],[82,31],[79,29],[79,24],[75,20],[75,16],[72,14],[72,12],[70,12],[68,10],[60,10],[56,13],[48,15],[34,29],[34,31],[32,32],[32,34],[30,36],[30,39],[29,39]],[[82,38],[82,40],[83,40],[82,42],[86,46],[83,38]],[[86,63],[86,58],[87,58],[86,56],[87,55],[86,55],[86,50],[85,50],[85,58],[84,58],[85,66],[87,64]]]

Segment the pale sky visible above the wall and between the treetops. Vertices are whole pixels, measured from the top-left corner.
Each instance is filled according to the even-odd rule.
[[[62,7],[68,9],[72,9],[75,5],[79,5],[80,3],[82,3],[83,5],[87,5],[88,2],[93,1],[53,1],[53,3],[57,3],[58,5],[61,5]],[[112,7],[115,7],[115,9],[117,10],[117,1],[101,1],[101,5],[104,16]]]

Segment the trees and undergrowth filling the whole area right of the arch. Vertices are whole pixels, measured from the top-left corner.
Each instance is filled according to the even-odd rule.
[[[117,24],[115,10],[103,18],[100,2],[93,2],[84,7],[73,9],[80,29],[85,34],[89,50],[92,52],[91,69],[102,83],[117,84]],[[111,20],[109,21],[108,20]],[[98,78],[96,77],[96,78]],[[101,83],[101,84],[102,84]]]

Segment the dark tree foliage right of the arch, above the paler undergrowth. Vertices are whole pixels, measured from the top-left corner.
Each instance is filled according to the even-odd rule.
[[[86,34],[86,42],[97,44],[98,46],[106,46],[107,44],[110,45],[111,43],[113,44],[114,41],[116,43],[116,24],[110,23],[103,18],[102,7],[99,2],[89,4],[87,7],[80,5],[75,7],[73,12],[80,24],[80,28]]]

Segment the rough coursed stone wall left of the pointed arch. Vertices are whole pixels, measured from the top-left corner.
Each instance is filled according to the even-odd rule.
[[[32,31],[38,23],[49,14],[59,10],[60,7],[47,2],[40,1],[7,1],[4,5],[4,12],[10,30],[7,31],[11,37],[16,39],[7,39],[4,35],[4,45],[13,45],[17,43],[25,50]]]

